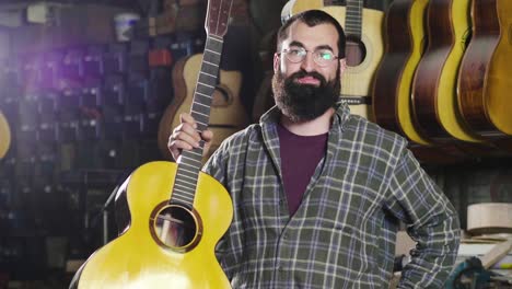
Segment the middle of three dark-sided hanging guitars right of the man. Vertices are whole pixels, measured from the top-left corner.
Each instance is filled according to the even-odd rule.
[[[412,83],[412,115],[422,135],[437,142],[481,141],[465,126],[456,102],[468,32],[469,0],[430,0],[429,44]]]

